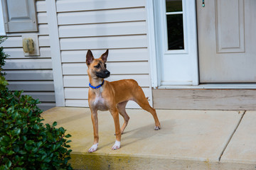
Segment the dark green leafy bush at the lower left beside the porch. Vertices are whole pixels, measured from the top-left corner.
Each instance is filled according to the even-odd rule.
[[[0,43],[2,38],[0,37]],[[6,55],[0,47],[0,73]],[[11,92],[0,74],[0,170],[72,169],[65,129],[42,123],[38,100]]]

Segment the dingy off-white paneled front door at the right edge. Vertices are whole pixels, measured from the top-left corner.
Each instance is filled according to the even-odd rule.
[[[256,82],[256,1],[197,0],[201,83]]]

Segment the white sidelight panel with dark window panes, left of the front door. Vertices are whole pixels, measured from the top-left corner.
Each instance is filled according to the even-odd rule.
[[[153,1],[157,83],[198,85],[196,1]]]

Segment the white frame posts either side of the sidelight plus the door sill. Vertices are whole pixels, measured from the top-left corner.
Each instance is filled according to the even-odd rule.
[[[196,35],[195,47],[196,56],[193,57],[193,72],[192,84],[191,85],[161,85],[161,61],[159,61],[159,45],[156,43],[156,24],[155,24],[155,13],[154,1],[146,0],[146,23],[147,23],[147,37],[148,37],[148,50],[149,50],[149,69],[151,76],[151,86],[153,89],[256,89],[256,84],[200,84],[199,83],[199,66],[198,66],[198,42],[197,42],[197,28],[196,28],[196,0],[191,1],[189,8],[193,8],[189,16],[194,16],[189,19],[194,27],[188,29],[191,34]],[[159,0],[157,0],[159,1]],[[186,0],[184,0],[186,1]],[[186,8],[187,9],[187,8]]]

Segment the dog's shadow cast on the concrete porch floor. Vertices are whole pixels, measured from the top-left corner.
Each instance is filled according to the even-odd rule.
[[[151,125],[143,126],[141,128],[135,128],[135,129],[129,130],[128,128],[129,123],[128,123],[127,129],[126,129],[127,131],[124,130],[124,133],[122,134],[121,147],[127,147],[138,141],[143,141],[150,137],[153,137],[154,135],[158,135],[159,137],[167,134],[169,135],[173,132],[173,128],[175,125],[176,125],[175,120],[164,120],[164,121],[161,121],[161,130],[154,130],[154,123],[152,123]],[[113,137],[114,137],[114,133],[113,133]],[[127,141],[130,141],[130,142],[127,142]],[[102,145],[101,147],[107,147],[109,145],[112,145],[112,143]]]

